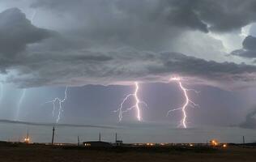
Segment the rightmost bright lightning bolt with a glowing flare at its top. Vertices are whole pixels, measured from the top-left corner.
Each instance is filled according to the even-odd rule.
[[[185,96],[185,103],[183,104],[183,106],[181,108],[169,110],[169,112],[167,113],[167,116],[169,116],[169,113],[173,113],[174,111],[181,110],[182,113],[183,113],[183,117],[181,119],[180,126],[183,126],[183,128],[187,128],[187,126],[186,126],[186,124],[187,124],[187,121],[186,121],[186,118],[187,118],[186,109],[187,109],[187,107],[191,106],[191,107],[195,108],[195,107],[199,106],[198,104],[195,104],[192,100],[190,100],[190,97],[188,96],[188,92],[190,92],[190,91],[193,91],[193,92],[196,92],[196,93],[199,93],[199,92],[195,91],[194,89],[187,89],[186,87],[184,87],[181,83],[181,78],[179,78],[179,77],[172,77],[171,79],[169,79],[169,81],[170,82],[175,81],[175,82],[178,83],[179,87],[181,87],[181,90],[182,90],[182,92]]]

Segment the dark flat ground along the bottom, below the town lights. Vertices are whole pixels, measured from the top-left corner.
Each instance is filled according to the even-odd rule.
[[[211,147],[51,147],[41,145],[0,145],[1,162],[90,162],[90,161],[207,161],[245,162],[256,160],[256,148]]]

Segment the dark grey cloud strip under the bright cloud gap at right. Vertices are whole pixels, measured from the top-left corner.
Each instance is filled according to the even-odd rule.
[[[160,59],[163,61],[163,66],[160,66],[160,68],[156,66],[155,69],[150,68],[151,71],[156,71],[156,73],[174,72],[214,80],[239,80],[243,78],[239,78],[239,75],[256,72],[256,66],[232,62],[208,62],[200,58],[188,57],[181,53],[161,53]]]

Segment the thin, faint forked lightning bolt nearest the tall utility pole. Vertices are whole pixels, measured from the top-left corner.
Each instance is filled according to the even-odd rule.
[[[52,103],[53,104],[53,111],[52,111],[52,114],[53,114],[53,117],[55,116],[55,109],[56,109],[56,103],[58,103],[58,116],[57,116],[57,119],[56,119],[56,123],[59,122],[59,120],[61,119],[61,115],[62,115],[62,112],[63,112],[63,107],[62,107],[62,103],[65,102],[66,98],[67,98],[67,88],[65,89],[65,96],[63,99],[60,99],[58,97],[56,97],[55,99],[53,100],[49,100],[48,102],[45,102],[45,104],[49,104],[49,103]]]

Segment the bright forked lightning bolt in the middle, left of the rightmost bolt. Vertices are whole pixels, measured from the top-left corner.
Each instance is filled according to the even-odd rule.
[[[124,100],[122,100],[122,103],[120,104],[120,107],[114,111],[114,113],[119,113],[118,114],[118,117],[119,117],[119,122],[122,121],[122,115],[123,113],[127,113],[133,109],[136,109],[136,112],[137,112],[137,120],[140,122],[142,121],[142,117],[141,117],[141,112],[140,112],[140,104],[144,104],[146,107],[147,107],[147,104],[142,101],[142,100],[139,100],[139,97],[138,97],[138,92],[139,92],[139,83],[138,82],[135,82],[134,83],[135,85],[135,91],[134,93],[131,93],[131,94],[128,94]],[[130,98],[134,97],[134,100],[135,100],[135,104],[132,105],[130,108],[127,108],[127,109],[124,109],[124,104],[126,103],[127,100],[129,100]]]

